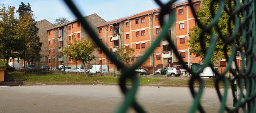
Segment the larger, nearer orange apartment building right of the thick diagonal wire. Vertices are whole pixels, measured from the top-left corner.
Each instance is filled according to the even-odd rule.
[[[193,0],[193,3],[196,9],[200,8],[200,0]],[[201,58],[193,55],[189,56],[188,52],[188,32],[190,28],[196,25],[188,2],[175,3],[171,6],[171,9],[176,12],[176,21],[168,31],[171,40],[177,47],[183,61],[199,63]],[[136,50],[134,53],[136,55],[135,61],[137,61],[161,33],[159,14],[160,9],[152,9],[106,22],[97,26],[98,35],[110,52],[115,52],[118,46],[134,48]],[[165,15],[165,19],[169,19],[169,14]],[[148,69],[152,69],[153,66],[158,68],[176,67],[178,66],[177,62],[178,59],[172,52],[169,43],[163,39],[160,45],[155,48],[153,54],[141,66]],[[110,71],[119,70],[101,49],[99,50],[99,63],[109,65]],[[130,64],[133,64],[133,62],[130,62]]]

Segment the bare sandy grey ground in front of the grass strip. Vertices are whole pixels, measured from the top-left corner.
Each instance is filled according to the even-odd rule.
[[[147,113],[187,113],[193,101],[187,87],[139,87],[136,99]],[[0,87],[0,113],[113,113],[122,102],[119,86]],[[219,112],[214,88],[204,89],[201,104],[206,113]],[[233,107],[231,90],[226,105]]]

